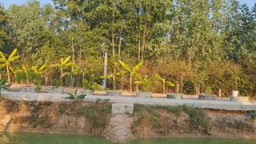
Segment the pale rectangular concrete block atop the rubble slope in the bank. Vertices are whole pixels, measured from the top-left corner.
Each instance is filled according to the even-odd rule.
[[[113,103],[112,114],[133,114],[134,104],[132,103]]]

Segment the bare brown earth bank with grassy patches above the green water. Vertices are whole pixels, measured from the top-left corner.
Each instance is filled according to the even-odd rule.
[[[202,110],[134,104],[134,114],[111,114],[110,102],[26,102],[0,99],[0,130],[89,134],[113,142],[136,138],[256,139],[255,111]]]

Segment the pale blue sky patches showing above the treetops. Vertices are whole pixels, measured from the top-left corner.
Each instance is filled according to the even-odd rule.
[[[42,5],[46,4],[46,3],[51,3],[52,5],[54,4],[54,2],[52,2],[52,0],[38,0]],[[5,6],[5,8],[8,8],[10,5],[12,4],[23,4],[26,3],[27,0],[0,0],[0,3],[3,4],[3,6]],[[241,4],[246,3],[247,6],[249,6],[250,8],[254,6],[254,3],[256,3],[256,0],[238,0],[238,2],[240,2]]]

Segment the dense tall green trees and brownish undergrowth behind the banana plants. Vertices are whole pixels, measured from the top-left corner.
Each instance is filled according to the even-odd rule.
[[[237,0],[53,1],[54,6],[38,1],[0,6],[0,49],[6,56],[1,63],[15,48],[20,57],[2,66],[0,77],[97,87],[107,51],[109,88],[134,90],[139,80],[134,75],[140,74],[147,80],[140,90],[162,92],[158,74],[174,83],[166,91],[256,92],[256,5],[241,6]],[[119,60],[129,67],[143,65],[130,76],[119,73],[124,71]],[[43,65],[40,74],[30,70]]]

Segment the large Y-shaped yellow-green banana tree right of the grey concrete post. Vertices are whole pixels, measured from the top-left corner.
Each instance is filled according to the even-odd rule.
[[[134,68],[132,68],[132,69],[129,66],[127,66],[124,62],[122,62],[121,60],[119,60],[119,63],[126,70],[126,72],[128,72],[130,74],[130,91],[132,91],[133,76],[136,73],[136,71],[142,66],[143,62],[139,62],[138,65],[134,66]]]

